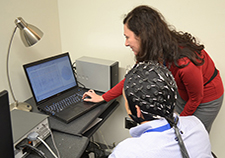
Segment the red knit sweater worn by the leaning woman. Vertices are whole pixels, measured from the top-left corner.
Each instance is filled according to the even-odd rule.
[[[187,64],[184,68],[178,68],[174,64],[170,67],[178,86],[181,98],[187,101],[181,116],[192,115],[200,103],[206,103],[218,99],[224,92],[223,83],[218,71],[217,76],[206,86],[204,84],[214,73],[215,65],[209,55],[203,50],[205,63],[195,66],[188,58],[182,58],[178,64]],[[115,87],[102,95],[105,101],[110,101],[122,94],[125,79]]]

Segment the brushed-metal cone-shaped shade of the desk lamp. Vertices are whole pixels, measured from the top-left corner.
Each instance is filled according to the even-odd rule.
[[[26,47],[34,45],[43,36],[41,30],[31,24],[27,24],[21,17],[15,20],[15,24],[20,29],[20,36]]]

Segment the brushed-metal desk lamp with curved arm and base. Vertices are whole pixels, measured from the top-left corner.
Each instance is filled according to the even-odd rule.
[[[28,103],[25,103],[25,102],[18,102],[18,100],[16,100],[16,98],[14,96],[14,93],[12,90],[12,85],[10,82],[10,77],[9,77],[9,53],[10,53],[10,48],[12,45],[12,40],[16,33],[17,28],[20,29],[20,36],[26,47],[30,47],[30,46],[34,45],[35,43],[37,43],[43,36],[43,32],[41,30],[39,30],[37,27],[26,23],[21,17],[18,17],[15,20],[15,24],[16,24],[16,27],[13,31],[12,37],[9,42],[7,59],[6,59],[7,79],[8,79],[10,92],[11,92],[11,95],[14,100],[14,103],[10,104],[10,110],[19,109],[19,110],[24,110],[24,111],[30,111],[32,109],[31,105],[29,105]]]

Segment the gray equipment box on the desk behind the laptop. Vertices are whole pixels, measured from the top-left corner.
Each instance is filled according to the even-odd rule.
[[[77,80],[88,89],[106,92],[119,80],[119,62],[83,56],[76,60]]]

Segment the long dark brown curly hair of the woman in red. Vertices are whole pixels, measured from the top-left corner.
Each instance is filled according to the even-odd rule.
[[[164,17],[149,6],[138,6],[124,18],[123,24],[140,37],[140,52],[136,56],[138,62],[157,61],[179,65],[178,59],[187,57],[199,66],[204,64],[201,50],[204,45],[197,43],[195,37],[187,32],[176,31],[167,25]]]

